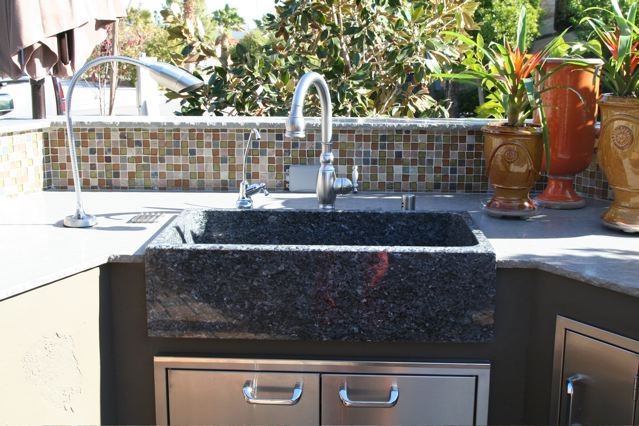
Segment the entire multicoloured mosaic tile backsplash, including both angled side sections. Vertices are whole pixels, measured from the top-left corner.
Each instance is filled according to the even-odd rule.
[[[346,120],[344,120],[346,121]],[[351,119],[333,130],[340,176],[359,166],[363,191],[486,192],[481,123]],[[283,120],[255,121],[262,139],[249,149],[247,177],[271,190],[287,189],[290,165],[318,164],[319,128],[304,140],[284,137]],[[381,123],[381,124],[380,124]],[[414,123],[421,123],[415,125]],[[451,124],[453,123],[453,124]],[[460,124],[461,123],[461,124]],[[260,125],[263,124],[263,125]],[[75,128],[83,189],[235,190],[242,151],[253,125],[234,123],[144,125],[137,121],[79,122]],[[544,187],[540,179],[536,190]],[[611,191],[596,164],[576,179],[595,198]],[[60,124],[40,132],[0,135],[0,194],[73,187],[66,133]]]

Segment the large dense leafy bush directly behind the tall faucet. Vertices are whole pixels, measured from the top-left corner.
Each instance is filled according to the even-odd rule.
[[[208,85],[182,113],[284,115],[306,71],[324,75],[339,116],[442,116],[430,75],[459,60],[446,30],[476,29],[470,0],[278,0],[259,49],[238,44],[228,67],[200,71]],[[255,45],[253,45],[255,47]],[[315,107],[317,108],[317,102]]]

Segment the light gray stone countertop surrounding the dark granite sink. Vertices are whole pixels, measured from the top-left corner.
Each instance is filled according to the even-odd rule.
[[[91,229],[67,229],[72,192],[0,198],[0,300],[111,262],[142,262],[146,245],[187,208],[233,208],[235,193],[87,192]],[[399,193],[340,197],[338,209],[398,210]],[[572,211],[541,210],[527,221],[481,213],[486,194],[418,194],[419,210],[464,210],[488,237],[502,268],[538,268],[639,297],[639,237],[608,230],[599,216],[607,202],[588,200]],[[256,208],[315,208],[314,194],[253,197]],[[128,223],[143,211],[162,212],[153,224]]]

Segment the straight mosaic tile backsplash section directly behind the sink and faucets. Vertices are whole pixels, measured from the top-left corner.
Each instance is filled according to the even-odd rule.
[[[242,180],[249,128],[77,128],[82,185],[87,189],[232,190]],[[286,189],[292,164],[319,164],[319,131],[305,140],[284,128],[261,129],[247,159],[251,181]],[[65,132],[46,135],[51,187],[72,187]],[[357,164],[364,191],[484,192],[481,134],[475,131],[339,129],[333,134],[340,176]]]

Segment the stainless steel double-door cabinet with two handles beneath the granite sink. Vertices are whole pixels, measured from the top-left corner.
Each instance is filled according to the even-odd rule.
[[[159,424],[486,424],[489,365],[155,358]]]

